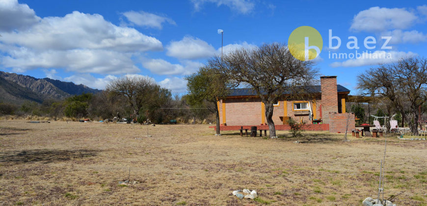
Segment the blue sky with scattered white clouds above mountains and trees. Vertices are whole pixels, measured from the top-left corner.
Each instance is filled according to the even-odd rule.
[[[144,76],[172,93],[185,94],[184,77],[221,54],[218,29],[224,30],[226,54],[264,43],[287,44],[294,29],[311,26],[323,40],[315,67],[321,75],[338,76],[338,84],[355,95],[357,76],[378,63],[427,56],[426,4],[421,0],[0,0],[0,70],[97,89],[119,77]],[[342,58],[333,58],[334,53],[342,53]],[[357,53],[369,55],[357,57]]]

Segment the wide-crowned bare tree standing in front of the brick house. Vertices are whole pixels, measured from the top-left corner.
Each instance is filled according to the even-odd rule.
[[[273,104],[284,94],[287,98],[305,93],[313,85],[317,71],[312,61],[300,61],[288,47],[280,43],[264,44],[256,49],[238,49],[208,61],[237,84],[250,85],[266,106],[266,118],[270,137],[276,136],[272,120]]]

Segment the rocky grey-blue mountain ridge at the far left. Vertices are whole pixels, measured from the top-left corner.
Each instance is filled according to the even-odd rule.
[[[101,90],[83,84],[64,82],[51,78],[35,78],[0,71],[0,102],[21,104],[25,101],[42,103],[46,99],[61,100],[82,93],[98,93]]]

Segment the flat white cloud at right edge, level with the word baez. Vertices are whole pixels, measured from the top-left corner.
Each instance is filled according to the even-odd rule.
[[[419,43],[426,42],[427,35],[423,32],[412,30],[412,31],[402,31],[400,29],[395,29],[393,31],[383,32],[382,36],[391,36],[390,44],[400,44],[400,43]]]

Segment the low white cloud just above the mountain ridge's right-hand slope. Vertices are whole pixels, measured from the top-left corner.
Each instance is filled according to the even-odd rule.
[[[75,84],[83,84],[90,88],[105,89],[105,86],[117,77],[107,75],[103,78],[96,78],[89,74],[79,74],[70,77],[65,77],[64,80],[74,82]]]

